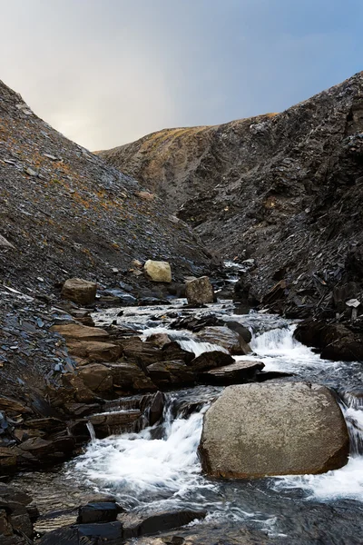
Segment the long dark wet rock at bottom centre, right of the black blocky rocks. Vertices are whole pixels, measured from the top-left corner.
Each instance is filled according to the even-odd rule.
[[[162,511],[144,519],[123,514],[119,520],[123,521],[123,538],[128,540],[180,528],[192,520],[204,519],[206,514],[205,511],[197,510]]]

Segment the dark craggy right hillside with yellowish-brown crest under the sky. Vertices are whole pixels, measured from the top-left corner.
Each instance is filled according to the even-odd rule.
[[[165,130],[101,156],[180,208],[210,249],[253,258],[240,286],[250,301],[309,313],[361,279],[363,72],[280,114]]]

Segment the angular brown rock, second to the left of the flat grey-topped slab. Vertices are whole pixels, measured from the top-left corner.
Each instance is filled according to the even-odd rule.
[[[108,365],[113,376],[113,388],[123,392],[155,391],[149,377],[133,362],[117,362]]]

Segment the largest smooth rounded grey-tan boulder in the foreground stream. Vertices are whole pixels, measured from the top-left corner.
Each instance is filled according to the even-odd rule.
[[[204,416],[200,444],[203,471],[233,479],[336,470],[348,450],[334,395],[308,382],[226,388]]]

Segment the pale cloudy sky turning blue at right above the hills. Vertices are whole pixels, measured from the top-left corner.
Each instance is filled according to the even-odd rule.
[[[90,150],[281,112],[363,69],[363,0],[0,0],[0,79]]]

